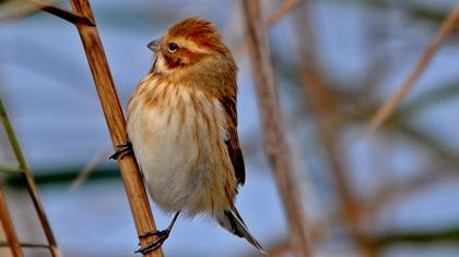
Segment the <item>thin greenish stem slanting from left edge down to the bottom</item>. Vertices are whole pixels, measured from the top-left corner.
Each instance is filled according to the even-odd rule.
[[[27,192],[32,198],[35,210],[37,211],[37,216],[38,216],[39,222],[42,223],[46,240],[48,241],[51,256],[54,257],[60,256],[55,236],[51,231],[51,227],[49,225],[48,219],[46,218],[46,215],[45,215],[45,208],[43,207],[42,200],[38,195],[38,191],[35,186],[34,179],[32,178],[31,171],[28,170],[27,163],[25,162],[24,156],[22,155],[20,144],[14,134],[13,127],[11,125],[10,119],[8,118],[8,114],[7,114],[7,111],[5,111],[5,108],[1,98],[0,98],[0,118],[4,125],[4,130],[7,132],[11,147],[13,148],[14,156],[20,164],[20,171],[22,173],[22,176],[25,180]]]

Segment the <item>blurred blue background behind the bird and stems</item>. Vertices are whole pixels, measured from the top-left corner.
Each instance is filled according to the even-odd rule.
[[[76,29],[44,12],[19,12],[22,3],[11,2],[21,1],[0,5],[0,94],[37,180],[58,245],[64,256],[132,256],[138,244],[136,230],[119,172],[107,159],[111,143]],[[261,2],[266,20],[282,3]],[[267,32],[317,256],[365,253],[340,213],[342,196],[336,189],[333,167],[302,85],[298,53],[303,46],[295,23],[306,12],[314,28],[317,69],[333,96],[329,100],[342,117],[333,144],[358,204],[356,225],[374,238],[380,256],[459,256],[457,34],[439,49],[395,118],[363,137],[375,108],[408,76],[455,1],[299,2]],[[247,183],[236,205],[262,245],[282,252],[287,229],[262,149],[247,49],[240,47],[245,40],[240,2],[91,3],[123,107],[152,64],[148,42],[185,17],[202,16],[217,25],[239,66],[239,134]],[[67,1],[59,4],[70,8]],[[11,162],[4,135],[0,149],[0,162]],[[94,163],[87,181],[72,187],[76,175]],[[43,242],[20,181],[4,181],[20,238]],[[153,212],[156,225],[165,228],[172,217],[154,205]],[[451,236],[445,240],[444,233]],[[204,218],[180,219],[164,250],[167,256],[258,256],[245,241]],[[38,250],[26,253],[46,256]]]

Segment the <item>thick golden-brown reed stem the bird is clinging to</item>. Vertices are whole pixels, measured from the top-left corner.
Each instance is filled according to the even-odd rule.
[[[87,0],[71,0],[71,3],[73,11],[78,15],[85,16],[95,24]],[[113,146],[114,149],[117,149],[118,146],[128,142],[128,136],[126,134],[126,121],[105,57],[104,48],[98,36],[97,27],[78,23],[76,28],[80,33],[87,62],[93,74]],[[133,155],[127,155],[123,158],[119,158],[117,161],[121,170],[122,181],[128,195],[138,234],[141,235],[155,231],[156,228],[154,225],[153,215],[136,158]],[[155,236],[142,236],[140,237],[140,243],[141,245],[145,245],[152,240],[155,240]],[[163,256],[163,252],[158,248],[154,252],[144,254],[144,256]]]

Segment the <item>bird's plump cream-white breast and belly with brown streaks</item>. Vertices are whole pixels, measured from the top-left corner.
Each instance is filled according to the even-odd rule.
[[[154,201],[191,216],[228,208],[237,182],[221,103],[187,87],[154,81],[143,86],[129,103],[127,128]]]

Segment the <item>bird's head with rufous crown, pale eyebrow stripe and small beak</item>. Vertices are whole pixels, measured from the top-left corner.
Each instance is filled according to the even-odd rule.
[[[234,64],[233,58],[216,27],[200,17],[190,17],[173,25],[166,34],[148,47],[155,52],[153,72],[174,74],[219,65]],[[208,68],[205,68],[208,69]]]

